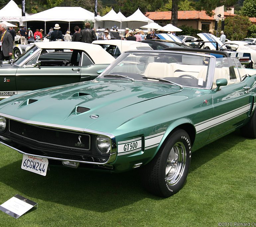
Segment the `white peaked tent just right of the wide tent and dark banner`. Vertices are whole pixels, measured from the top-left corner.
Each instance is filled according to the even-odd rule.
[[[99,22],[99,20],[101,21],[101,23]],[[98,26],[103,28],[112,28],[115,25],[116,27],[121,28],[121,18],[113,9],[111,9],[105,16],[101,17],[100,19],[96,18],[96,28]]]

